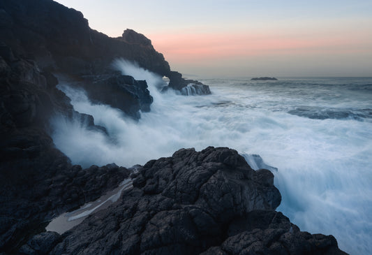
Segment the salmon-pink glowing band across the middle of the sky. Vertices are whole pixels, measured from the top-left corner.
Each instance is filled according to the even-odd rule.
[[[241,33],[150,34],[159,52],[174,63],[208,62],[226,58],[291,54],[369,54],[371,38],[363,35],[329,34],[322,37]]]

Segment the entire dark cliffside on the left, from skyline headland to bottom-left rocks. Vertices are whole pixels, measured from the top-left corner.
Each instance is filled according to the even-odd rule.
[[[47,220],[128,176],[114,165],[73,166],[48,135],[54,115],[106,132],[91,115],[73,110],[52,72],[68,75],[92,99],[131,117],[149,110],[146,82],[112,72],[116,57],[161,75],[170,72],[151,41],[134,31],[109,38],[91,30],[80,12],[54,1],[0,1],[0,252],[14,252]]]

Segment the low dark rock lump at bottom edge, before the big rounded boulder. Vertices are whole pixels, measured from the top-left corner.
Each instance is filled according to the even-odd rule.
[[[230,224],[228,238],[212,254],[346,254],[332,235],[302,232],[281,212],[255,210]]]

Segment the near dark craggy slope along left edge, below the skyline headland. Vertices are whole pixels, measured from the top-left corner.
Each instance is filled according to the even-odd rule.
[[[116,165],[82,169],[47,134],[53,115],[94,125],[73,110],[57,78],[0,45],[0,252],[14,252],[56,214],[94,200],[130,173]]]

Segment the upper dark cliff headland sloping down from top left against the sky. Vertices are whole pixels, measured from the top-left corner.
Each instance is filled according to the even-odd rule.
[[[0,41],[32,54],[41,68],[75,74],[100,74],[118,57],[168,75],[170,66],[151,41],[133,30],[110,38],[89,28],[82,13],[51,0],[4,0]],[[141,38],[141,39],[138,39]]]

